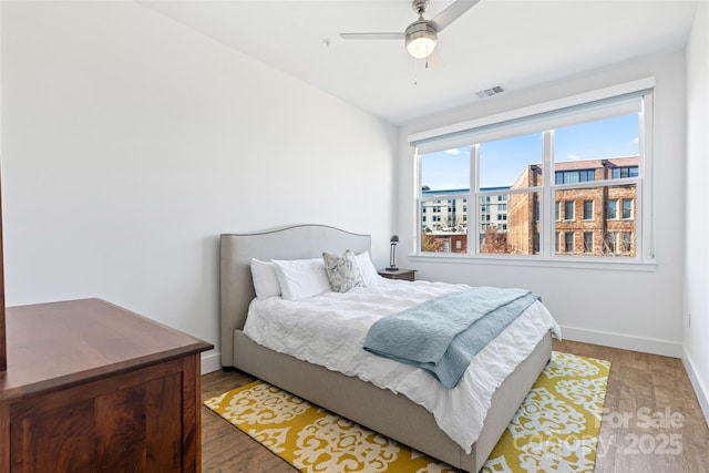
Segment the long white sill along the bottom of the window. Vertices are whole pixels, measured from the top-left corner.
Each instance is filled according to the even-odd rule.
[[[627,259],[624,257],[599,258],[543,258],[540,256],[483,256],[483,255],[465,255],[431,253],[431,254],[411,254],[410,261],[419,263],[445,263],[460,265],[492,265],[492,266],[525,266],[525,267],[543,267],[543,268],[573,268],[573,269],[602,269],[602,270],[620,270],[620,271],[646,271],[657,270],[657,263],[640,259]]]

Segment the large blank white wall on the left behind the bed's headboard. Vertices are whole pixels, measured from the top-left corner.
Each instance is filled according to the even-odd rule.
[[[388,260],[391,125],[133,2],[1,8],[9,306],[104,298],[215,369],[220,233],[322,223]]]

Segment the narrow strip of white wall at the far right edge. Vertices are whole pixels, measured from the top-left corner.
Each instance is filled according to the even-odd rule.
[[[709,3],[687,45],[685,366],[709,422]],[[691,323],[689,315],[691,313]]]

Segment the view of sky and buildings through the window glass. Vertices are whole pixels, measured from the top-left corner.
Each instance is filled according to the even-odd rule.
[[[638,148],[636,113],[424,154],[421,251],[635,257]]]

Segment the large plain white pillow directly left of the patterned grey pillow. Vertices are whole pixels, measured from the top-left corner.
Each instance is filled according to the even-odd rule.
[[[322,258],[273,261],[281,296],[286,300],[305,299],[331,290]]]

